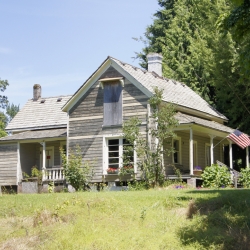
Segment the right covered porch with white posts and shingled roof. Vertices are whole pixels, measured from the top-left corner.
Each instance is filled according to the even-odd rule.
[[[169,179],[177,178],[175,168],[182,178],[199,178],[195,170],[204,170],[216,161],[225,162],[225,155],[229,155],[227,161],[233,169],[232,141],[227,136],[234,130],[216,121],[177,113],[179,126],[175,129],[176,137],[172,141],[175,152],[169,156],[164,155],[166,176]],[[227,146],[227,147],[225,147]],[[166,144],[165,147],[168,147]],[[225,150],[229,150],[225,154]],[[246,163],[249,167],[248,147],[246,148]]]

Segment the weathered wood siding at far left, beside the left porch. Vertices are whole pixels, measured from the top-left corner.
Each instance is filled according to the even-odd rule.
[[[17,144],[0,144],[0,186],[17,185]]]

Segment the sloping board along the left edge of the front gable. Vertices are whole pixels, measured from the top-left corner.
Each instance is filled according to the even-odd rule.
[[[80,98],[91,88],[95,82],[101,77],[101,75],[110,67],[111,62],[108,59],[100,68],[83,84],[78,92],[72,97],[72,99],[65,104],[62,111],[68,112],[74,105],[80,100]]]

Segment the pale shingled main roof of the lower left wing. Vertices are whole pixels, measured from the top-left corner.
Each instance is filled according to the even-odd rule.
[[[6,131],[67,127],[67,113],[62,111],[62,107],[70,97],[69,95],[40,98],[37,101],[28,100],[8,124]],[[59,98],[61,100],[57,101]]]

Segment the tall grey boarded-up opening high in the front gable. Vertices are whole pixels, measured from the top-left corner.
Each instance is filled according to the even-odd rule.
[[[119,81],[104,83],[103,125],[122,124],[122,85]]]

